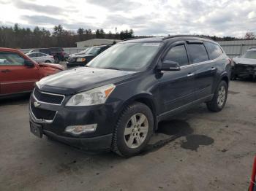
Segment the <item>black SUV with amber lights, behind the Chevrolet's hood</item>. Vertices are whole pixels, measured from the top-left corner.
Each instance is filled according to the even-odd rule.
[[[89,63],[89,61],[91,61],[101,52],[107,50],[109,47],[110,45],[90,47],[89,49],[86,49],[86,51],[82,52],[81,54],[79,53],[79,54],[71,55],[67,59],[67,68],[71,68],[74,66],[86,66],[86,64]]]

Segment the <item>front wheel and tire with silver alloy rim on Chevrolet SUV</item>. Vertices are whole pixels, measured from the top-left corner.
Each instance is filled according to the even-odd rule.
[[[111,150],[121,157],[138,155],[148,144],[153,128],[154,117],[148,106],[140,102],[127,106],[116,122]]]

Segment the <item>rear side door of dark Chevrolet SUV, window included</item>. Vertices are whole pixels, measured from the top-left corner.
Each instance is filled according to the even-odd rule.
[[[195,68],[195,98],[199,100],[211,95],[216,76],[214,61],[208,57],[203,41],[187,41],[189,58]]]

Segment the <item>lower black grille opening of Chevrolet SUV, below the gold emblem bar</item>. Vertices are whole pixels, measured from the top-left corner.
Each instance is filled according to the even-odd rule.
[[[34,106],[33,102],[30,103],[31,112],[37,120],[53,120],[56,111],[50,111],[46,109],[40,109]]]

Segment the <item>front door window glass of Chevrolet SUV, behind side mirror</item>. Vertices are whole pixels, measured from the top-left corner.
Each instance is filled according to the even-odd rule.
[[[164,61],[175,61],[180,66],[186,66],[189,64],[187,58],[187,52],[184,45],[178,45],[176,47],[172,47],[167,55],[165,55]]]

